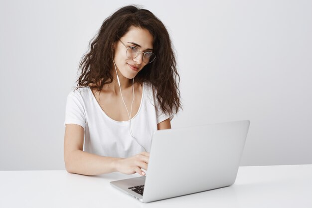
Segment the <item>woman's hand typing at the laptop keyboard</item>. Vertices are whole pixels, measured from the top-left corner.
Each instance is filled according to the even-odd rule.
[[[123,174],[138,173],[141,176],[145,176],[145,172],[141,170],[148,170],[148,164],[150,159],[150,153],[142,152],[130,158],[121,158],[116,162],[116,169]]]

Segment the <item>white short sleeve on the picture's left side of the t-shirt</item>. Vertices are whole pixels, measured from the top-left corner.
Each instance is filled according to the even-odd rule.
[[[79,91],[74,90],[69,93],[66,101],[65,124],[77,124],[86,127],[84,103]]]

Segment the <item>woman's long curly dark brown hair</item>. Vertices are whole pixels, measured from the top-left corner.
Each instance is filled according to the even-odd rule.
[[[134,5],[122,7],[104,20],[98,34],[90,41],[90,50],[80,61],[82,72],[77,88],[91,85],[91,89],[101,91],[104,84],[112,83],[112,44],[131,26],[149,30],[154,37],[153,52],[156,54],[156,60],[137,74],[135,82],[152,84],[161,110],[169,115],[177,113],[181,108],[180,77],[168,31],[151,11]]]

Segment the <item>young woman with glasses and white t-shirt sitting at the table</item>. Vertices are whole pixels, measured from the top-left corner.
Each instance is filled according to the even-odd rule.
[[[67,97],[64,160],[70,173],[145,175],[152,135],[181,108],[168,32],[149,10],[105,19]]]

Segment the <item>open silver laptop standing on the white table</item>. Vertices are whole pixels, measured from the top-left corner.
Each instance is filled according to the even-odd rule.
[[[234,184],[250,121],[156,131],[146,176],[110,184],[153,202]]]

